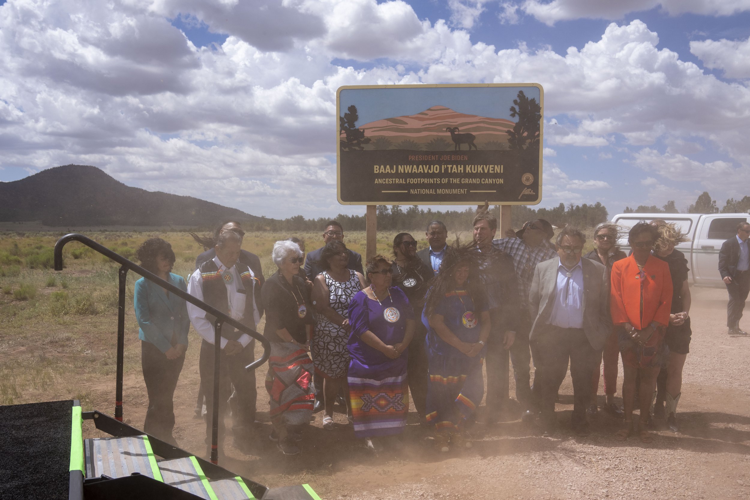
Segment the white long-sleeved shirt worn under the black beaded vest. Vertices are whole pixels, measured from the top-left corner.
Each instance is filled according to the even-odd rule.
[[[244,289],[242,280],[239,277],[239,271],[237,271],[237,268],[234,265],[232,268],[227,269],[218,257],[214,257],[214,263],[219,268],[220,274],[231,273],[233,276],[232,283],[226,283],[226,281],[223,281],[223,283],[226,286],[226,300],[229,304],[229,316],[231,316],[232,319],[240,321],[245,317],[245,302],[247,299],[244,293],[238,292],[238,290]],[[252,269],[250,270],[250,274],[254,277]],[[253,291],[255,292],[255,280],[250,281],[253,286]],[[203,300],[203,280],[201,278],[200,269],[196,269],[190,276],[190,281],[187,283],[187,293],[193,295],[193,297],[200,301]],[[258,313],[258,308],[255,305],[255,294],[253,294],[253,299],[253,317],[255,324],[257,325],[258,322],[260,322],[260,313]],[[187,316],[190,316],[190,322],[193,324],[193,328],[195,328],[198,334],[203,337],[206,342],[210,344],[214,343],[214,323],[206,318],[206,312],[188,302]],[[231,325],[226,325],[224,328],[233,327]],[[250,335],[242,334],[237,341],[242,344],[242,347],[247,347],[252,340],[253,337]],[[221,337],[221,349],[226,347],[227,342],[228,340],[225,337]]]

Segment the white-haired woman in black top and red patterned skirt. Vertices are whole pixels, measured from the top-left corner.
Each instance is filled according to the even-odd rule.
[[[313,313],[310,292],[299,277],[305,259],[293,241],[277,241],[272,251],[278,271],[263,286],[266,328],[271,343],[266,389],[269,391],[273,431],[285,455],[299,454],[296,441],[313,414],[315,395],[311,390],[313,361],[308,355]]]

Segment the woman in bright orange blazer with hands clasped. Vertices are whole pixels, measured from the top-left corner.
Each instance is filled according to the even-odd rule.
[[[669,325],[672,305],[672,278],[667,262],[651,255],[658,229],[641,221],[628,233],[633,253],[612,265],[610,312],[618,331],[622,352],[622,400],[625,403],[625,429],[617,431],[620,441],[633,432],[635,380],[640,376],[638,436],[652,442],[646,431],[651,398],[662,361],[668,354],[664,331]]]

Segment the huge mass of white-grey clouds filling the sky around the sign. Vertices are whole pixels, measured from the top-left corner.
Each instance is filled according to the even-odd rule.
[[[252,11],[243,3],[255,4],[1,5],[0,168],[89,163],[130,184],[206,193],[254,214],[335,214],[340,85],[537,81],[547,146],[652,145],[666,136],[667,154],[652,146],[633,161],[677,171],[693,161],[685,144],[700,140],[726,155],[704,166],[750,170],[750,89],[658,49],[657,34],[640,21],[610,24],[598,40],[557,53],[472,43],[465,29],[419,19],[401,0],[279,0]],[[226,41],[194,46],[169,22],[177,16]],[[268,32],[249,28],[260,22]],[[545,166],[544,182],[545,204],[595,201],[586,196],[608,187],[571,180],[556,166]]]

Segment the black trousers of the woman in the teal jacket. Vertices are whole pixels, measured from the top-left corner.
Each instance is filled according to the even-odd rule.
[[[150,342],[141,340],[141,367],[148,393],[148,410],[145,412],[143,430],[166,442],[173,442],[175,409],[173,399],[185,357],[166,359]]]

